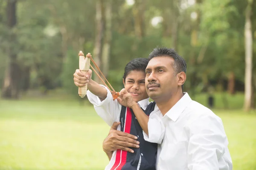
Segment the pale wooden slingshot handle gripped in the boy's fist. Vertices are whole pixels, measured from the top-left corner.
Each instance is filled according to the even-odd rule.
[[[84,57],[84,54],[82,51],[79,52],[79,70],[81,73],[87,73],[90,69],[90,58],[89,57]],[[86,96],[87,92],[87,84],[84,85],[83,87],[78,88],[78,94],[81,98]]]

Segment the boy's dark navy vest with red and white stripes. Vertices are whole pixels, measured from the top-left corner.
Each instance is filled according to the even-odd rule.
[[[155,102],[151,102],[148,105],[144,111],[146,115],[149,116],[154,111],[155,104]],[[134,153],[117,150],[116,160],[111,170],[114,170],[116,167],[118,167],[116,170],[137,170],[138,167],[140,167],[139,170],[156,170],[157,143],[144,140],[143,130],[132,109],[122,106],[120,122],[121,131],[137,136],[140,147],[131,148],[134,150]]]

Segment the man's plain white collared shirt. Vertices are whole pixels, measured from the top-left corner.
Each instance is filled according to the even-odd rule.
[[[184,96],[163,116],[149,116],[148,142],[158,143],[157,170],[232,170],[221,118]]]

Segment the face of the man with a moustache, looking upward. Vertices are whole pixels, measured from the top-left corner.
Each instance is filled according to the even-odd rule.
[[[166,101],[177,92],[178,76],[175,76],[172,57],[154,57],[145,70],[145,87],[154,101]]]

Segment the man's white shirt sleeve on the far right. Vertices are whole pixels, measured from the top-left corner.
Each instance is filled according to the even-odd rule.
[[[189,170],[232,170],[228,140],[218,116],[201,116],[189,125]],[[219,167],[219,162],[225,162]]]

